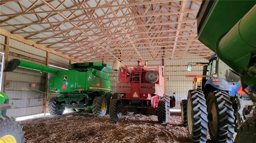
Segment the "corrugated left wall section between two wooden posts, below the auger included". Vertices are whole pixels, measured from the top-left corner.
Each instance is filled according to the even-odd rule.
[[[46,60],[46,51],[14,39],[10,39],[9,51],[24,57],[42,61]],[[9,60],[14,58],[30,61],[12,55],[9,55],[8,57]],[[36,89],[45,92],[46,73],[17,68],[13,72],[7,73],[6,83],[9,86],[6,86],[5,92],[10,98],[9,104],[12,106],[12,109],[7,110],[7,115],[19,117],[44,112],[44,94],[30,89],[29,84],[36,83]]]

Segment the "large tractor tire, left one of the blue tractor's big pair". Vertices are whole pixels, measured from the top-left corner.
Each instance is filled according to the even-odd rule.
[[[207,141],[207,108],[201,90],[189,90],[187,100],[188,136],[192,143]]]

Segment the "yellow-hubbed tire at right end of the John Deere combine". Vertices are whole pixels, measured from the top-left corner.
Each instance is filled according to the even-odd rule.
[[[93,116],[102,117],[106,115],[107,104],[104,96],[97,96],[92,102],[92,114]]]

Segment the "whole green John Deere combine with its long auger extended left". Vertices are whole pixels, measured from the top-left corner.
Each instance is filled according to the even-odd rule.
[[[104,63],[75,63],[69,70],[58,70],[35,63],[12,59],[4,72],[17,67],[56,74],[50,78],[48,90],[60,96],[49,101],[52,115],[62,115],[65,108],[92,109],[94,116],[105,116],[112,96],[109,72],[112,67]],[[33,85],[34,86],[34,85]]]

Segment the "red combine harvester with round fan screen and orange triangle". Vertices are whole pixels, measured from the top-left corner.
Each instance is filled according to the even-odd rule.
[[[162,69],[147,70],[146,63],[130,69],[114,61],[113,70],[122,71],[119,73],[116,93],[110,101],[110,119],[120,120],[122,113],[128,115],[134,112],[149,113],[158,116],[159,123],[166,123],[170,116],[170,108],[175,106],[174,97],[164,94],[164,77]],[[171,104],[170,104],[171,103]]]

